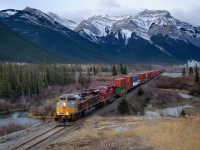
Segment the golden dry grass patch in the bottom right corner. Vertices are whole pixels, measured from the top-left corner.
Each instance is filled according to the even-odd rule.
[[[160,125],[143,125],[133,131],[145,144],[162,150],[200,149],[200,119],[179,120]]]

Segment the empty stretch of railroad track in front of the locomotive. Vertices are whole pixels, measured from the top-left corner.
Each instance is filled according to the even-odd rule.
[[[11,150],[28,150],[33,148],[34,146],[38,145],[39,143],[45,141],[46,139],[48,139],[50,136],[55,135],[56,133],[61,132],[63,129],[65,128],[65,126],[56,126],[53,127],[13,148],[11,148]]]

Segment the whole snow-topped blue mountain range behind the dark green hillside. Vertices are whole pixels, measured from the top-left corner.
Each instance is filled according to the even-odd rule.
[[[200,27],[181,22],[164,10],[126,16],[96,15],[78,24],[27,7],[0,11],[0,21],[31,44],[55,53],[54,57],[62,58],[64,63],[200,60]]]

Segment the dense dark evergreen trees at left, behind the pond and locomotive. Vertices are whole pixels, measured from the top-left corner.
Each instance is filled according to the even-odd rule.
[[[20,96],[39,94],[41,88],[75,82],[75,68],[65,65],[0,63],[0,98],[12,102]]]

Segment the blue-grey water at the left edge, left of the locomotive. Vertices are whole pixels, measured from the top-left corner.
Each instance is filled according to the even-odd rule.
[[[21,125],[40,123],[40,119],[28,118],[28,112],[16,111],[0,115],[0,125],[15,122]]]

